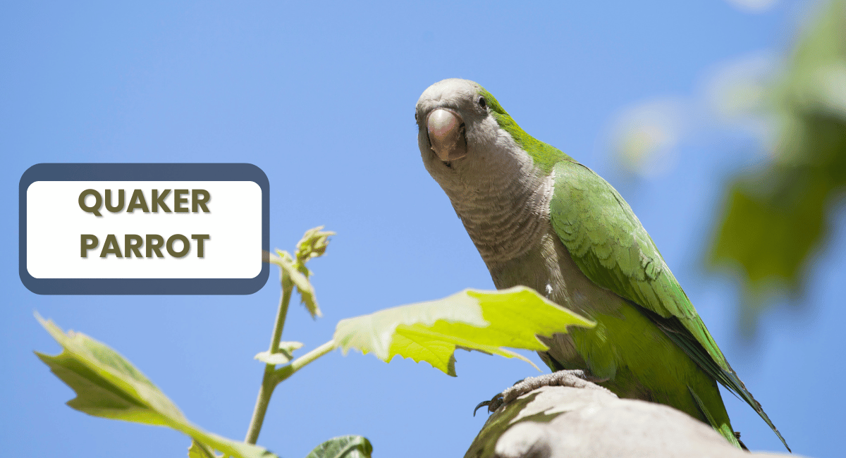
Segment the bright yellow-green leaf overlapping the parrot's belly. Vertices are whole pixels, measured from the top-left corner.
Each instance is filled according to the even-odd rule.
[[[503,346],[547,350],[536,335],[566,333],[570,325],[594,323],[525,286],[494,292],[467,289],[437,301],[342,319],[333,340],[344,354],[355,348],[386,363],[395,355],[410,357],[454,377],[456,347],[532,364]]]

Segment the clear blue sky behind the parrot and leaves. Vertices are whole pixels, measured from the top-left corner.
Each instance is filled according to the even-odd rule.
[[[739,284],[701,254],[733,172],[761,161],[739,134],[676,147],[661,176],[624,179],[613,120],[662,96],[696,98],[723,63],[783,49],[807,3],[750,14],[722,0],[514,3],[4,3],[0,14],[0,235],[17,246],[18,182],[40,162],[250,162],[271,183],[271,246],[338,232],[311,265],[324,316],[291,308],[284,340],[313,348],[338,319],[492,288],[448,199],[420,161],[413,110],[440,79],[474,79],[536,138],[609,178],[651,233],[711,333],[794,451],[834,456],[846,402],[844,221],[810,267],[801,307],[780,303],[739,338]],[[32,354],[58,352],[33,311],[121,352],[203,428],[246,432],[276,312],[271,280],[250,296],[37,296],[0,262],[0,443],[19,456],[184,456],[164,428],[107,421]],[[333,436],[376,456],[463,455],[478,401],[534,373],[459,352],[458,378],[408,360],[333,352],[280,385],[259,444],[305,456]],[[537,357],[534,357],[538,361]],[[540,364],[540,363],[539,363]],[[753,450],[780,450],[748,406],[724,396]]]

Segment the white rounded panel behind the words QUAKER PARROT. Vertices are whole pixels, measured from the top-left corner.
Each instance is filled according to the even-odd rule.
[[[91,210],[96,195],[88,195],[80,205],[80,194],[88,189],[102,198],[96,210],[101,216]],[[107,210],[107,189],[115,205],[118,190],[124,190],[121,210]],[[140,198],[133,199],[136,189],[148,211],[140,205]],[[160,196],[170,190],[159,199],[169,211],[162,206],[152,211],[154,189]],[[188,190],[180,194],[184,200],[180,199],[179,205],[187,212],[176,211],[176,191],[180,189]],[[207,199],[206,194],[193,190],[205,191]],[[133,203],[136,208],[127,211]],[[110,234],[115,243],[107,243]],[[189,251],[179,257],[173,254],[180,254],[184,246],[174,234],[190,244]],[[85,249],[93,240],[83,240],[83,235],[95,236],[96,247]],[[150,236],[161,237],[158,252],[162,257],[156,250],[150,250],[147,257],[147,248],[157,243],[157,237]],[[138,238],[140,246],[129,249],[128,244],[138,245]],[[261,272],[261,258],[261,188],[251,181],[36,181],[26,190],[26,269],[36,279],[249,279]]]

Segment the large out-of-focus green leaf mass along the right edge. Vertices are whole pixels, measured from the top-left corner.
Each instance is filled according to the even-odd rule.
[[[711,266],[738,265],[750,330],[769,292],[800,292],[827,240],[827,215],[846,187],[846,2],[808,23],[762,104],[777,120],[771,160],[736,177],[710,249]]]

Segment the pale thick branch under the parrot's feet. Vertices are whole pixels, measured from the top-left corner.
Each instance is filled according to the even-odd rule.
[[[544,386],[492,413],[464,458],[751,456],[798,458],[738,450],[672,407],[603,389]]]

